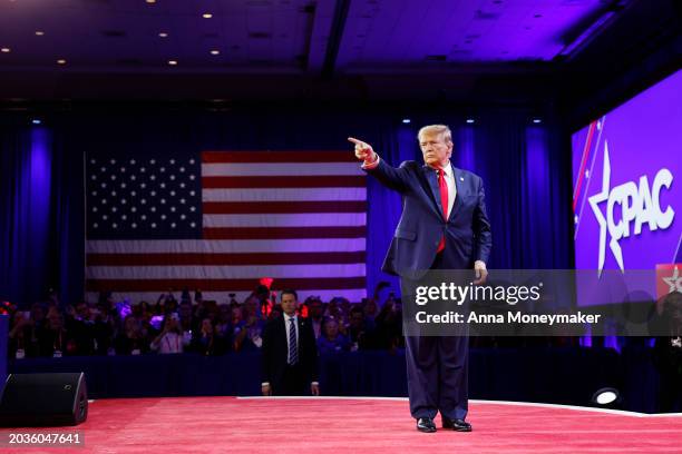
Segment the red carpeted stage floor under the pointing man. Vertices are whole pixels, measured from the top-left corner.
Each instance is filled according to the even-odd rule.
[[[439,428],[436,434],[422,434],[415,430],[402,398],[103,399],[90,404],[85,424],[61,428],[82,431],[85,450],[4,452],[682,452],[682,414],[472,401],[468,420],[472,433]]]

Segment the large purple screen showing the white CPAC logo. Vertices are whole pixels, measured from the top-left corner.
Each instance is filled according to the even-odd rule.
[[[578,305],[653,295],[654,279],[640,283],[634,270],[678,263],[681,93],[678,71],[573,135],[575,267],[595,270],[601,284],[579,282]],[[603,284],[608,269],[633,272],[627,286]]]

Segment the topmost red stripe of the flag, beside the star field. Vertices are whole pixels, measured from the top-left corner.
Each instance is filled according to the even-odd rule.
[[[203,151],[202,162],[358,162],[352,151]]]

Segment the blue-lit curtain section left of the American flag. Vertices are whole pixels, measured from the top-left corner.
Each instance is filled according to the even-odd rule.
[[[82,285],[71,272],[82,276],[84,250],[78,165],[48,128],[4,124],[0,144],[0,298],[27,307],[53,288],[60,299],[77,300]]]

